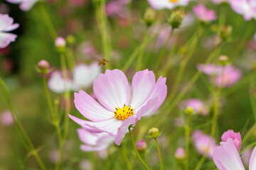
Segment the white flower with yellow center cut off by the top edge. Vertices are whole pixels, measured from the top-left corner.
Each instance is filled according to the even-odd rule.
[[[154,9],[169,8],[173,9],[176,6],[187,6],[189,1],[193,0],[148,0],[149,4]]]

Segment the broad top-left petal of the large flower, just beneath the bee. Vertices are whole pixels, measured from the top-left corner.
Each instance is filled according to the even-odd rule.
[[[93,81],[93,91],[100,103],[110,111],[129,103],[129,84],[125,74],[119,70],[108,70]]]

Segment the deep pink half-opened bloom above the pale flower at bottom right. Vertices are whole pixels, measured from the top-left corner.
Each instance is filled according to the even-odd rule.
[[[234,132],[233,130],[224,132],[221,136],[221,142],[227,142],[228,139],[233,140],[235,147],[240,151],[242,142],[240,132]]]

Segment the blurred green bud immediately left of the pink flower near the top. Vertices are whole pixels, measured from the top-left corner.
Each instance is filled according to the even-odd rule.
[[[173,11],[171,16],[167,19],[173,29],[179,28],[185,16],[184,11]]]

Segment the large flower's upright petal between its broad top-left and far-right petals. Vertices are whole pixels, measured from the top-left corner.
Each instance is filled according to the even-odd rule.
[[[132,78],[132,108],[136,109],[146,103],[154,90],[156,79],[148,69],[137,72]]]

